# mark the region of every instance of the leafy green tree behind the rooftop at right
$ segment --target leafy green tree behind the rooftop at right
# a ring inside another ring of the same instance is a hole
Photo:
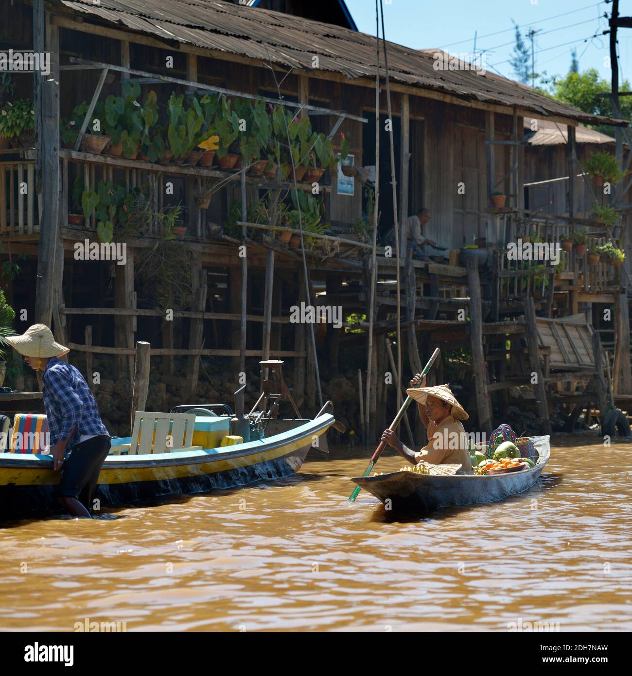
[[[621,91],[629,91],[629,82],[624,80],[619,89]],[[561,80],[554,80],[551,95],[557,101],[572,105],[579,108],[579,110],[583,110],[585,113],[614,117],[610,98],[607,96],[597,96],[598,94],[608,94],[610,91],[610,82],[600,78],[596,68],[589,68],[581,73],[571,70]],[[632,97],[621,97],[619,99],[621,113],[626,120],[632,118],[631,99]],[[603,134],[613,135],[613,128],[608,124],[600,124],[600,126],[593,128]]]

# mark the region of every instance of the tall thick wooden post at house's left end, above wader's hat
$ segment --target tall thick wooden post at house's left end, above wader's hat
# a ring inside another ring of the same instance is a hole
[[[55,250],[59,240],[59,76],[55,80],[59,64],[59,29],[44,21],[43,0],[33,3],[34,51],[47,51],[51,58],[51,74],[46,80],[40,73],[33,74],[34,97],[41,99],[34,108],[36,118],[35,174],[40,177],[39,203],[42,206],[37,280],[35,283],[35,321],[51,325],[53,295],[55,289]],[[46,44],[44,41],[44,26]],[[39,132],[39,135],[37,134]],[[45,177],[45,180],[43,180]]]

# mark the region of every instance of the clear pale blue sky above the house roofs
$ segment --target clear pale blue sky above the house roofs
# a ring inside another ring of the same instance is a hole
[[[358,30],[375,33],[374,0],[346,0]],[[610,37],[595,33],[608,30],[612,2],[590,0],[383,0],[386,37],[407,47],[441,47],[451,53],[471,53],[474,35],[477,52],[486,50],[487,68],[514,78],[508,60],[514,46],[512,19],[522,32],[535,35],[535,72],[564,75],[575,47],[580,70],[597,68],[610,80]],[[571,12],[571,14],[567,14]],[[632,0],[621,0],[621,16],[632,16]],[[565,16],[558,16],[564,14]],[[555,18],[556,17],[556,18]],[[504,32],[500,32],[504,31]],[[495,33],[490,35],[491,33]],[[632,71],[632,28],[618,29],[620,78],[630,79]],[[585,39],[589,38],[587,41]],[[574,44],[566,44],[571,43]],[[530,43],[529,43],[530,44]],[[493,68],[491,68],[493,66]]]

